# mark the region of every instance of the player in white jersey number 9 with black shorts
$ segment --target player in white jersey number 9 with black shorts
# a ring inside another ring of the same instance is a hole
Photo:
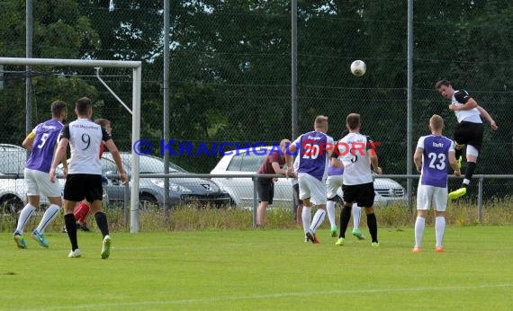
[[[105,147],[111,151],[123,184],[128,182],[128,177],[123,170],[120,152],[111,136],[100,125],[90,120],[93,115],[91,100],[86,97],[77,100],[75,113],[78,119],[62,129],[58,148],[49,171],[49,179],[51,182],[55,182],[58,159],[66,153],[69,144],[71,159],[64,186],[64,223],[71,242],[71,252],[67,256],[76,258],[81,255],[76,239],[76,221],[73,209],[76,207],[76,202],[85,198],[90,203],[96,224],[102,232],[103,246],[100,255],[106,259],[111,253],[111,236],[109,235],[107,216],[102,211],[102,165],[98,157],[102,141],[104,141]]]

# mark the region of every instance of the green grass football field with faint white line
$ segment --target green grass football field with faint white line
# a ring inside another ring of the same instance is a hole
[[[102,260],[97,231],[79,233],[78,259],[66,234],[19,250],[2,233],[0,308],[513,309],[513,227],[447,227],[446,253],[435,253],[432,227],[422,253],[411,252],[411,227],[379,235],[381,248],[352,236],[336,246],[326,229],[321,244],[299,229],[114,233]]]

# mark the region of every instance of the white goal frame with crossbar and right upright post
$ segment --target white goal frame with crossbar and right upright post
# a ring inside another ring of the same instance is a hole
[[[132,69],[131,146],[140,139],[140,90],[142,63],[125,60],[0,58],[0,65],[53,67],[118,67]],[[139,232],[139,155],[131,148],[130,233]]]

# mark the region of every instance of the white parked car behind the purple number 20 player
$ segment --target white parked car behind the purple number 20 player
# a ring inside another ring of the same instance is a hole
[[[257,173],[258,168],[268,155],[272,147],[256,147],[249,150],[232,151],[224,155],[218,164],[211,170],[211,174],[233,174],[231,178],[211,178],[217,182],[229,195],[238,207],[251,207],[253,205],[253,181],[249,177],[236,177],[240,174]],[[256,155],[254,152],[257,150]],[[393,201],[406,200],[406,191],[400,183],[390,178],[374,179],[374,203],[375,205],[386,205]],[[343,197],[342,189],[338,189],[338,196]],[[291,180],[280,178],[275,182],[274,204],[284,203],[285,207],[293,206],[293,186]]]

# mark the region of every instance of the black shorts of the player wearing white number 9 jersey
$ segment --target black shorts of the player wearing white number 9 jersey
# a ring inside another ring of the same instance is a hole
[[[67,174],[64,184],[64,200],[78,202],[102,200],[102,175],[90,173]]]

